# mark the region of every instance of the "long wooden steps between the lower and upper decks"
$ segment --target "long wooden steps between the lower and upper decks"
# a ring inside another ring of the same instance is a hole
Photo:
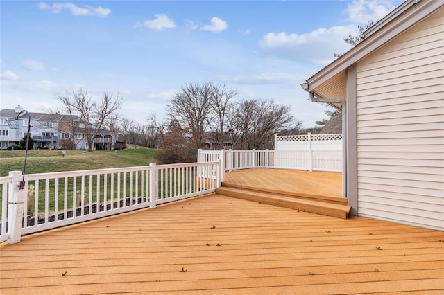
[[[346,204],[332,204],[330,202],[302,199],[286,194],[261,192],[259,190],[248,190],[227,186],[216,188],[216,194],[343,219],[348,217],[351,209],[351,207]]]

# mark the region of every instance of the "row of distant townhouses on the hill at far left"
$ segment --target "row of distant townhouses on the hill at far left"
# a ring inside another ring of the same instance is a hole
[[[33,149],[58,149],[71,148],[72,128],[71,121],[79,122],[78,117],[69,117],[63,114],[45,114],[24,112],[17,120],[18,129],[11,129],[8,120],[16,118],[23,111],[20,106],[15,109],[0,110],[0,150],[5,150],[10,145],[19,143],[28,132],[28,118],[31,118],[31,138],[33,138]],[[80,123],[79,123],[80,125]],[[115,143],[114,130],[99,130],[94,138],[94,150],[113,150]],[[81,128],[74,132],[74,143],[76,149],[86,150],[88,148],[85,134]]]

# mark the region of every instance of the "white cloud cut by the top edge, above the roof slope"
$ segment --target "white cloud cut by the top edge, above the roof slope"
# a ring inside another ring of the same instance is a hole
[[[355,24],[366,24],[368,21],[378,21],[395,9],[390,1],[381,0],[355,0],[348,4],[345,13],[348,21]]]

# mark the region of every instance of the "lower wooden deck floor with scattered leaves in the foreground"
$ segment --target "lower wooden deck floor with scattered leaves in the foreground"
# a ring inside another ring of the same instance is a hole
[[[0,245],[0,294],[443,294],[444,233],[207,195]]]

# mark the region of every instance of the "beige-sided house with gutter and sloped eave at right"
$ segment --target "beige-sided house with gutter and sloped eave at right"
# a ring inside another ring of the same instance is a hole
[[[404,1],[302,84],[343,110],[352,214],[444,230],[444,1]]]

